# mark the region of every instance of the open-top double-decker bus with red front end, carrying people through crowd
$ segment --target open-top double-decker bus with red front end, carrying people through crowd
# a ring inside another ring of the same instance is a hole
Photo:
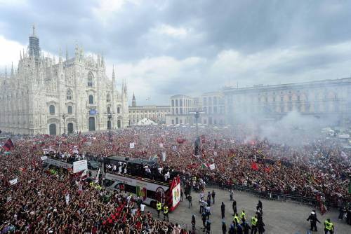
[[[156,207],[157,201],[167,205],[170,211],[179,205],[180,177],[172,172],[165,179],[156,161],[110,156],[104,158],[103,164],[106,188],[138,195],[151,207]]]

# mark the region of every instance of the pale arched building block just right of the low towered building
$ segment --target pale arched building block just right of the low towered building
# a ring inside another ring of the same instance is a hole
[[[201,109],[199,98],[189,97],[187,95],[174,95],[170,98],[171,112],[166,116],[167,125],[175,124],[193,124],[194,113]],[[201,121],[199,121],[201,123]]]

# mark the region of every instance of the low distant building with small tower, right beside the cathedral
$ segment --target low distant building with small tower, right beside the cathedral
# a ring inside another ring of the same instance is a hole
[[[143,118],[148,118],[155,123],[166,123],[166,114],[170,113],[170,106],[137,106],[135,95],[133,94],[132,106],[128,107],[129,125],[135,125]]]

